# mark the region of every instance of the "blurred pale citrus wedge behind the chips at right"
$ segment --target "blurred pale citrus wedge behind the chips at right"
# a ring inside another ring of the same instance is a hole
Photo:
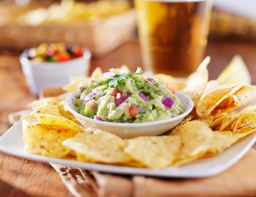
[[[235,55],[227,67],[218,76],[217,81],[251,84],[250,73],[240,55]]]

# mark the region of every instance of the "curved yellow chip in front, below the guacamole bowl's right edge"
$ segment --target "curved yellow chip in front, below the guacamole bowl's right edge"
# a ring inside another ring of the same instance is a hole
[[[212,141],[213,131],[201,121],[191,121],[179,127],[175,133],[181,137],[182,148],[173,166],[180,166],[204,156]]]

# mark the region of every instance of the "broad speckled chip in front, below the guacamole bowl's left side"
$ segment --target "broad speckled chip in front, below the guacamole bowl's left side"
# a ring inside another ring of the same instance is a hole
[[[79,161],[103,163],[131,161],[131,158],[122,151],[126,142],[112,133],[99,129],[88,128],[62,144],[75,151]]]

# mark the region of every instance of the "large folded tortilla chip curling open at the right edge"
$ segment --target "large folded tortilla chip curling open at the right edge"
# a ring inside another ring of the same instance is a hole
[[[209,81],[196,107],[200,118],[229,112],[256,98],[256,86]],[[240,100],[239,100],[240,99]]]

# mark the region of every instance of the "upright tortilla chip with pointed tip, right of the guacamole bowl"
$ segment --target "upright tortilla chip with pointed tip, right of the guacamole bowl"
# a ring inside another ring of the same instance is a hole
[[[186,87],[182,90],[183,93],[188,95],[193,103],[194,107],[197,106],[198,101],[204,93],[204,89],[208,83],[208,70],[207,65],[210,62],[210,57],[207,56],[204,61],[199,65],[196,72],[192,73],[186,80]]]

